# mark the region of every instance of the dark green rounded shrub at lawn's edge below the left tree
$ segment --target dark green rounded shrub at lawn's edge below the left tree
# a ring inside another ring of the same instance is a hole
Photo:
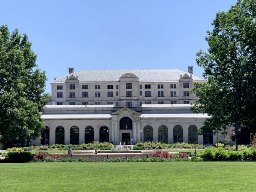
[[[24,163],[30,162],[33,159],[33,154],[27,151],[19,151],[19,152],[8,152],[7,153],[7,162],[12,163]]]

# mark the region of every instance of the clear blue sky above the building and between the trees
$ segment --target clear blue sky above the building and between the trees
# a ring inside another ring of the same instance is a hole
[[[81,69],[194,66],[216,12],[236,0],[5,0],[0,24],[28,34],[48,77]]]

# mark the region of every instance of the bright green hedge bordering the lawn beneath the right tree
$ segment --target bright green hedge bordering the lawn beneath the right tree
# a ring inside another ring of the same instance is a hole
[[[200,157],[206,161],[248,161],[256,160],[256,149],[228,151],[223,148],[206,148],[200,153]]]

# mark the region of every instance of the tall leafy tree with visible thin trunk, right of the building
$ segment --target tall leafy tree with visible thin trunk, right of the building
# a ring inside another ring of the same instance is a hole
[[[195,84],[192,92],[199,92],[199,100],[191,110],[211,116],[201,134],[224,133],[234,125],[237,149],[237,130],[256,130],[256,0],[238,0],[227,12],[217,12],[212,26],[208,51],[196,54],[208,82]]]

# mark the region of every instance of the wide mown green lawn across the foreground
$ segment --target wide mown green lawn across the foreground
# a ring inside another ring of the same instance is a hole
[[[248,192],[256,162],[0,164],[3,192]]]

